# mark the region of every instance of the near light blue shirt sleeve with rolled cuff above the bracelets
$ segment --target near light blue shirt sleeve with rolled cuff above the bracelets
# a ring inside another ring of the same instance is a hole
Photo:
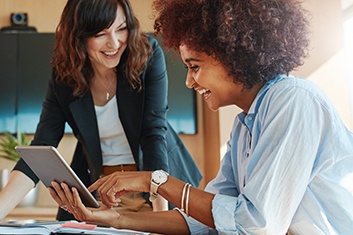
[[[239,195],[225,192],[228,195],[218,194],[213,199],[217,231],[287,232],[314,173],[320,139],[330,125],[325,112],[320,99],[302,88],[283,89],[264,98],[252,128],[243,189]],[[239,148],[244,145],[237,146],[241,141],[232,141],[234,161],[242,157]],[[221,187],[216,185],[219,191]]]

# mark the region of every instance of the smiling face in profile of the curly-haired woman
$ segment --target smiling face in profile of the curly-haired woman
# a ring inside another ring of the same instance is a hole
[[[202,95],[211,110],[232,104],[243,108],[243,85],[234,83],[223,64],[205,53],[188,50],[185,45],[179,51],[188,68],[186,86]]]

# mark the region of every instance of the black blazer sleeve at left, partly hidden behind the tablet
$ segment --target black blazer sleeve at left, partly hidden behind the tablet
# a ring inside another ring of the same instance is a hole
[[[55,95],[55,81],[52,78],[45,94],[40,120],[31,145],[51,145],[57,147],[64,134],[65,118]],[[29,166],[20,159],[14,167],[26,174],[36,184],[39,179]]]

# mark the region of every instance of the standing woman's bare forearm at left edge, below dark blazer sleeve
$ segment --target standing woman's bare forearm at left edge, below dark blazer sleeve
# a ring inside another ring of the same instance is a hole
[[[34,182],[25,174],[13,171],[0,192],[0,220],[6,217],[34,186]]]

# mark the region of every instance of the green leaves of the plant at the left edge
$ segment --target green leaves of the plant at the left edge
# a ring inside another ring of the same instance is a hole
[[[0,157],[17,162],[21,156],[15,150],[15,147],[29,145],[30,143],[31,140],[24,133],[17,133],[17,136],[14,136],[11,133],[4,132],[3,136],[0,137]]]

